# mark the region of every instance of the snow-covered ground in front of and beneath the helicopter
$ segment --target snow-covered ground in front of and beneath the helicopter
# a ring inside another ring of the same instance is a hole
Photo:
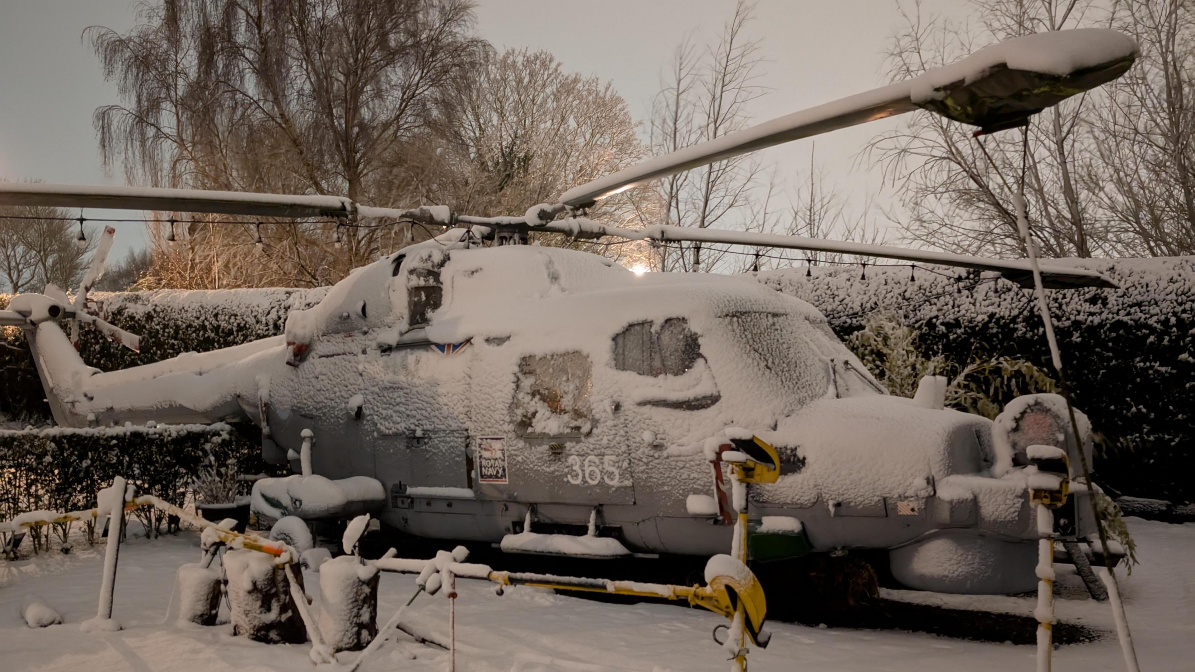
[[[131,525],[135,527],[135,524]],[[1195,524],[1168,525],[1129,519],[1141,564],[1122,578],[1129,623],[1145,672],[1189,672],[1195,642]],[[229,625],[164,625],[174,572],[197,560],[198,538],[182,534],[147,542],[133,538],[121,548],[116,618],[120,633],[82,633],[79,623],[94,616],[102,554],[75,545],[69,556],[0,561],[0,670],[220,672],[223,670],[307,670],[308,646],[268,646],[233,637]],[[1123,572],[1121,573],[1123,575]],[[1072,578],[1073,579],[1073,578]],[[1072,581],[1073,584],[1073,581]],[[318,591],[318,576],[306,576]],[[1110,607],[1065,589],[1059,613],[1097,629],[1111,628]],[[415,578],[386,574],[381,581],[379,622],[413,591]],[[538,672],[565,670],[701,671],[725,670],[721,649],[710,640],[718,616],[662,604],[624,606],[557,595],[533,588],[496,597],[489,584],[459,582],[458,666],[460,670]],[[63,624],[25,627],[20,607],[37,595],[57,610]],[[318,600],[318,595],[314,595]],[[899,595],[921,600],[970,601],[1009,611],[1031,610],[1021,598],[943,598],[929,593]],[[448,601],[421,597],[404,623],[427,635],[446,637]],[[834,672],[967,672],[1034,670],[1034,648],[960,641],[933,635],[807,628],[771,623],[766,650],[750,655],[754,671],[819,670]],[[341,654],[351,660],[355,654]],[[445,670],[447,653],[400,634],[363,666],[366,671]],[[1059,672],[1123,670],[1114,635],[1066,646],[1054,654]]]

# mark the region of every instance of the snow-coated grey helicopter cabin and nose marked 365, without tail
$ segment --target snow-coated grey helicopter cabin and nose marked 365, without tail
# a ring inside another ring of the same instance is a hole
[[[373,474],[381,517],[409,532],[492,542],[526,505],[578,529],[601,505],[632,548],[717,552],[729,529],[686,501],[713,494],[704,440],[743,427],[786,462],[760,512],[808,520],[821,550],[888,548],[937,526],[937,481],[991,465],[987,420],[887,396],[817,311],[758,283],[553,248],[448,257],[425,326],[324,334],[270,384],[275,436],[295,446],[312,428],[315,471]],[[406,286],[391,286],[399,324]],[[918,513],[897,518],[897,502]],[[1019,507],[992,511],[989,529],[1025,533]]]

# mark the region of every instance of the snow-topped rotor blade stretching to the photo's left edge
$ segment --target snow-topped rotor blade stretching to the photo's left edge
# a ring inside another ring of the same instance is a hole
[[[345,216],[353,207],[353,201],[341,196],[0,182],[0,206],[313,218]]]

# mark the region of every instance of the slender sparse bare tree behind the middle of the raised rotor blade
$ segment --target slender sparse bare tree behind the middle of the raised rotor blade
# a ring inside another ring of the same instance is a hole
[[[652,110],[652,149],[673,152],[744,128],[750,103],[764,94],[759,85],[760,47],[747,37],[754,4],[739,0],[719,39],[700,60],[688,42],[674,54],[664,86]],[[725,225],[752,206],[761,166],[741,155],[715,161],[663,181],[657,190],[661,219],[699,228]],[[712,270],[725,251],[694,243],[662,248],[662,270]]]

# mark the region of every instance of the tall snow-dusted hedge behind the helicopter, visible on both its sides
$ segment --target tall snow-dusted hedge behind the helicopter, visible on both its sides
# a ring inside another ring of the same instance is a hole
[[[1097,476],[1114,493],[1195,502],[1195,257],[1085,259],[1120,289],[1050,291],[1076,404],[1103,436]],[[821,310],[847,338],[877,311],[917,330],[927,358],[966,364],[1016,356],[1052,371],[1031,292],[1004,280],[909,265],[762,271],[758,280]],[[85,329],[80,352],[105,371],[281,332],[289,310],[325,289],[158,291],[96,294],[105,317],[142,336],[137,355]],[[5,303],[0,298],[0,303]],[[0,306],[2,307],[2,306]],[[49,416],[19,334],[0,348],[0,413]],[[16,349],[12,349],[16,348]]]

